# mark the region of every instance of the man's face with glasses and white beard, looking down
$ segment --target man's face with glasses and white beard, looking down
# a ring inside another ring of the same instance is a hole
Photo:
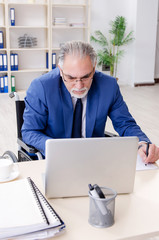
[[[60,67],[59,67],[60,68]],[[79,56],[67,55],[60,68],[60,74],[67,90],[71,96],[82,98],[88,93],[95,67],[93,67],[89,56],[80,58]]]

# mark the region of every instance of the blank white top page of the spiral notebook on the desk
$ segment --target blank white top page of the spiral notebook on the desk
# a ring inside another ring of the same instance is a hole
[[[0,237],[46,226],[28,179],[0,185],[0,215]]]

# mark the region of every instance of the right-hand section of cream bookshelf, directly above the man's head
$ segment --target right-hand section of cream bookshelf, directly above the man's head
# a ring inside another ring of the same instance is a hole
[[[61,24],[54,19],[64,18]],[[51,50],[56,53],[60,45],[70,40],[90,40],[90,0],[51,1]]]

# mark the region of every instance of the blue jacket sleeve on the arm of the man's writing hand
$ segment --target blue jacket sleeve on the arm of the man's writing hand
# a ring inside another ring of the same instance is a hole
[[[118,84],[115,85],[114,102],[111,106],[109,117],[112,120],[114,129],[120,136],[137,136],[139,141],[150,141],[130,114]]]

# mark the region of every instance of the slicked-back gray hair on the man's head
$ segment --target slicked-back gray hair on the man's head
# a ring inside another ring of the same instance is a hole
[[[81,41],[71,41],[67,42],[61,46],[59,52],[59,66],[62,68],[66,55],[79,56],[80,58],[84,58],[89,56],[93,67],[97,61],[97,54],[93,47],[89,43],[81,42]]]

